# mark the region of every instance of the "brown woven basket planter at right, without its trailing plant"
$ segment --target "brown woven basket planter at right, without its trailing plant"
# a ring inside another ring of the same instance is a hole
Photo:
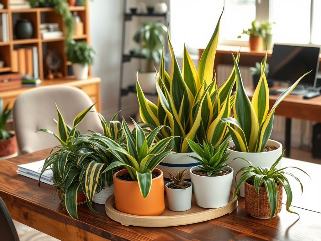
[[[265,187],[259,187],[257,195],[254,186],[245,182],[245,209],[247,212],[259,219],[269,219],[271,217],[270,204],[267,199]],[[279,214],[282,209],[282,185],[277,185],[278,201],[273,217]]]

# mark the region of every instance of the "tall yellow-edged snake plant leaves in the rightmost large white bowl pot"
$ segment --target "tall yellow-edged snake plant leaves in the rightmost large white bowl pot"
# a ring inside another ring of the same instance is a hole
[[[308,73],[300,77],[293,85],[286,89],[277,98],[269,111],[269,87],[265,76],[266,52],[261,63],[261,77],[256,86],[252,101],[249,100],[244,89],[237,60],[232,55],[236,70],[236,94],[234,100],[234,118],[221,118],[228,123],[231,138],[236,149],[241,152],[263,152],[273,128],[275,108],[299,84],[299,81]]]

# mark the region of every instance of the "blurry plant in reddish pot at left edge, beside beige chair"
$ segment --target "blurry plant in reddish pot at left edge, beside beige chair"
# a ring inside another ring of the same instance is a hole
[[[13,131],[5,129],[8,119],[12,115],[9,103],[4,107],[4,101],[0,99],[0,159],[16,155],[18,151],[16,136]]]

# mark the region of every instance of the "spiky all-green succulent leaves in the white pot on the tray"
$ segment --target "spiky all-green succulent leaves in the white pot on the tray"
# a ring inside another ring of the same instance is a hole
[[[225,162],[228,160],[230,153],[226,153],[227,147],[229,146],[228,142],[222,143],[214,148],[209,143],[204,143],[204,147],[201,144],[197,144],[192,140],[187,139],[188,145],[191,147],[200,158],[195,156],[189,156],[199,162],[198,167],[202,169],[208,176],[212,174],[221,173],[225,167],[228,165]]]

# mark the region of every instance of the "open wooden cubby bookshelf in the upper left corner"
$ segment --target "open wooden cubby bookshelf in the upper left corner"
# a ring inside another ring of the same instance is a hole
[[[62,17],[55,12],[54,8],[30,8],[30,9],[10,9],[9,0],[0,0],[0,3],[4,4],[4,9],[0,10],[0,13],[8,13],[9,24],[9,41],[0,42],[0,60],[3,60],[4,67],[0,68],[0,72],[11,71],[13,66],[13,49],[24,46],[37,46],[39,56],[39,76],[42,80],[48,74],[48,68],[44,62],[44,56],[48,49],[56,49],[62,56],[63,64],[58,70],[64,76],[68,76],[67,58],[65,56],[65,37],[55,39],[42,39],[40,34],[40,24],[44,22],[57,22],[60,29],[66,35],[66,29],[62,21]],[[84,25],[84,34],[80,36],[74,36],[74,40],[85,40],[90,42],[89,38],[89,1],[86,6],[73,6],[69,7],[70,11],[78,12],[78,16],[81,18]],[[33,25],[34,34],[31,39],[17,39],[14,34],[14,25],[17,19],[29,19]],[[91,75],[91,68],[89,69],[89,75]]]

